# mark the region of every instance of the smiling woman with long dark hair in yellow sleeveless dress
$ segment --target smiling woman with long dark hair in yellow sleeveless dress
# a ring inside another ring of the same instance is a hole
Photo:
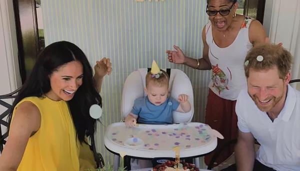
[[[108,58],[96,63],[93,79],[75,44],[43,49],[13,102],[0,171],[79,171],[80,147],[96,128],[89,108],[101,105],[102,79],[111,73]]]

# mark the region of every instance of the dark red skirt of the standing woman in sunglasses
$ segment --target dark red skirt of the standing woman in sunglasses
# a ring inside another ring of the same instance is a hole
[[[210,89],[207,96],[205,124],[217,130],[224,136],[223,140],[217,140],[217,147],[222,146],[229,140],[237,138],[237,116],[235,114],[236,100],[226,100],[220,98]],[[234,145],[224,149],[215,161],[218,165],[226,160],[234,151]],[[206,165],[209,164],[214,152],[204,157]]]

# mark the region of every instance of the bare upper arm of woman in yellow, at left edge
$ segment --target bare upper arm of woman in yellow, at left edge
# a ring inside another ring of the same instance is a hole
[[[0,156],[0,171],[16,171],[28,139],[40,127],[40,113],[31,102],[22,102],[11,121],[9,136]]]

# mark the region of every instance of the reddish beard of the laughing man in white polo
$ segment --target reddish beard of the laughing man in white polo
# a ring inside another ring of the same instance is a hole
[[[250,97],[260,111],[269,112],[283,98],[283,94],[281,94],[279,97],[272,96],[271,98],[267,98],[269,100],[267,102],[268,103],[267,105],[261,105],[261,102],[259,102],[258,97],[256,95],[253,96],[250,95]]]

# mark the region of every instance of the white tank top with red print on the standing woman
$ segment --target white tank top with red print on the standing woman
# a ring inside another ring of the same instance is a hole
[[[219,97],[236,100],[239,91],[246,86],[243,63],[252,43],[248,28],[252,19],[245,17],[235,40],[227,47],[218,47],[212,38],[211,22],[205,25],[208,57],[211,63],[211,80],[208,87]]]

